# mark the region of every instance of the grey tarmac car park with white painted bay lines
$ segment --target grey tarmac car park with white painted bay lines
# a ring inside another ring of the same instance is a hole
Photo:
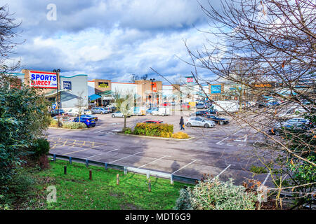
[[[133,127],[145,120],[162,120],[173,124],[174,132],[178,132],[180,116],[186,120],[189,113],[132,116],[127,119],[127,126]],[[232,178],[237,184],[252,179],[250,165],[261,165],[251,158],[251,149],[252,144],[263,141],[263,137],[234,121],[208,129],[185,127],[184,132],[194,139],[178,141],[120,135],[117,132],[122,129],[124,118],[112,118],[111,113],[98,115],[98,118],[96,127],[88,130],[49,129],[50,153],[197,179],[203,174],[220,174],[220,179]],[[265,176],[260,174],[256,179],[263,181]]]

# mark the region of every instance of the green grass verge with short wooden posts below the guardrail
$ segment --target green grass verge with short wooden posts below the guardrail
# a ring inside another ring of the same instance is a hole
[[[179,190],[185,183],[151,177],[151,192],[148,192],[146,176],[108,169],[88,168],[83,164],[57,160],[51,162],[51,169],[34,174],[37,185],[32,189],[37,199],[29,200],[25,207],[32,209],[173,209],[179,196]],[[67,165],[67,174],[64,166]],[[92,170],[92,181],[89,180]],[[117,174],[120,183],[117,186]],[[46,189],[55,186],[57,202],[46,202]]]

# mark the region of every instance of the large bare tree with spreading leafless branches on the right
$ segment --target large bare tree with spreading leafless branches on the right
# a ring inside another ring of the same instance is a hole
[[[194,68],[192,76],[198,85],[219,78],[235,83],[239,102],[246,92],[251,96],[247,100],[263,101],[262,107],[249,107],[246,113],[226,112],[265,137],[254,154],[270,170],[277,197],[282,190],[291,189],[297,193],[298,206],[311,202],[316,173],[315,1],[220,2],[220,10],[210,1],[200,4],[209,18],[209,30],[202,32],[211,36],[203,50],[192,52],[185,42],[191,57],[187,63]],[[199,69],[213,73],[213,78],[206,80]],[[267,98],[279,101],[278,105]],[[279,120],[289,109],[301,110],[299,116],[308,123],[289,130]],[[282,135],[268,134],[277,123]],[[265,152],[268,154],[263,157]]]

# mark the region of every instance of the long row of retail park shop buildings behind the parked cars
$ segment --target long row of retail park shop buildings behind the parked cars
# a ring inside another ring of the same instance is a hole
[[[83,107],[106,106],[114,102],[114,96],[129,95],[136,106],[162,105],[163,102],[187,103],[199,100],[236,99],[232,91],[239,87],[221,82],[209,85],[197,85],[190,76],[183,84],[164,85],[160,80],[135,80],[134,83],[117,83],[108,79],[88,80],[88,75],[62,76],[58,72],[22,69],[20,73],[11,73],[20,83],[37,87],[52,102],[53,108],[77,108],[79,99]],[[60,102],[58,105],[57,102]]]

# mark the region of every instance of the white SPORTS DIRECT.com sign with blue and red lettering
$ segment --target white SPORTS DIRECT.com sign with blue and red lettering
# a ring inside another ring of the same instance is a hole
[[[31,86],[37,88],[57,89],[57,75],[51,72],[29,71]]]

